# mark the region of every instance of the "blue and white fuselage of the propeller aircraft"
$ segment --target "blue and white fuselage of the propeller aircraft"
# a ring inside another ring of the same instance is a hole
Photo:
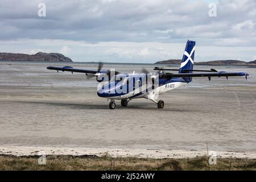
[[[115,75],[113,80],[98,86],[98,96],[110,100],[132,100],[146,98],[154,101],[159,94],[187,85],[183,78],[161,78],[159,75],[144,73]],[[123,78],[120,81],[120,78]],[[126,88],[126,89],[123,89]],[[122,90],[122,92],[118,92]]]

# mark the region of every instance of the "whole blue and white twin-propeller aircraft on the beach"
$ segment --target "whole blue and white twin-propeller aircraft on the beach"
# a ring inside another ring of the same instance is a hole
[[[187,46],[179,69],[164,69],[155,67],[156,73],[149,73],[146,69],[142,69],[141,73],[124,73],[108,70],[102,71],[102,63],[99,63],[98,70],[76,69],[73,67],[47,67],[57,72],[79,72],[86,75],[96,76],[98,84],[97,94],[100,97],[110,100],[109,108],[115,109],[115,100],[121,100],[122,106],[127,106],[128,102],[135,98],[146,98],[155,102],[159,109],[164,107],[162,100],[156,101],[159,94],[174,90],[180,86],[187,85],[192,81],[192,77],[226,77],[229,76],[247,76],[245,72],[224,72],[210,70],[193,69],[195,44],[188,40]],[[166,71],[179,71],[178,73],[170,73]],[[200,72],[200,73],[193,73]]]

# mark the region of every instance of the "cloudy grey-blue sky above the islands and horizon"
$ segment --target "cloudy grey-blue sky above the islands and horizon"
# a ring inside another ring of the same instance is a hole
[[[1,0],[0,27],[0,52],[154,63],[181,59],[191,39],[196,61],[256,59],[254,0]]]

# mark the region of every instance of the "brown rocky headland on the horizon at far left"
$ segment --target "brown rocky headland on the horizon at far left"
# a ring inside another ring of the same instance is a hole
[[[0,60],[7,61],[65,61],[73,62],[69,57],[65,57],[61,53],[45,53],[38,52],[34,55],[25,53],[6,53],[0,52]]]

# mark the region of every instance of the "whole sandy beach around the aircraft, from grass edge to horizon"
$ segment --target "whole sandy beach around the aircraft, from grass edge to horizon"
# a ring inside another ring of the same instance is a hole
[[[109,102],[97,96],[97,82],[82,74],[48,71],[47,65],[0,64],[0,154],[27,155],[50,148],[65,154],[63,148],[68,148],[81,155],[114,150],[113,155],[122,156],[189,157],[204,155],[208,143],[210,151],[222,151],[217,152],[220,156],[255,158],[252,68],[245,70],[250,72],[249,81],[214,78],[209,83],[197,78],[191,86],[161,95],[162,110],[143,99],[125,108],[117,102],[117,108],[109,110]],[[118,66],[124,72],[141,68]],[[212,85],[198,86],[204,83]]]

